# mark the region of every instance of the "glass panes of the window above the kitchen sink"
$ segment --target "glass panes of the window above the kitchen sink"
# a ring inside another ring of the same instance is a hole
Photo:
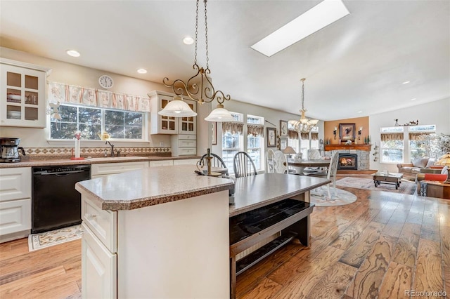
[[[112,139],[143,140],[144,113],[97,107],[60,105],[61,119],[51,119],[50,139],[74,139],[76,131],[84,140],[100,140],[108,132]]]

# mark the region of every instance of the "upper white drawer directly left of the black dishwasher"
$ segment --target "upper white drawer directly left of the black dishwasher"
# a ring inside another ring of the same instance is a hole
[[[31,197],[31,167],[1,168],[0,201]]]

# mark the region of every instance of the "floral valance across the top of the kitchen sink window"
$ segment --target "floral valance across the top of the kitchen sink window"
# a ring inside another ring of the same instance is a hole
[[[138,95],[113,93],[95,88],[47,81],[49,102],[69,102],[71,104],[100,108],[122,109],[136,112],[150,112],[150,99]]]

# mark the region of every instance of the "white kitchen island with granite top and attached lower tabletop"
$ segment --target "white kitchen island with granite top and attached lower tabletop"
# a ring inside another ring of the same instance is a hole
[[[195,175],[194,169],[146,168],[77,183],[83,298],[229,298],[230,215],[264,207],[262,201],[309,199],[309,190],[328,182],[273,174],[285,181],[281,189],[294,187],[282,195],[269,192],[271,198],[258,203],[261,194],[252,188],[270,189],[268,177],[257,176],[257,185],[241,180],[230,208],[233,182]]]

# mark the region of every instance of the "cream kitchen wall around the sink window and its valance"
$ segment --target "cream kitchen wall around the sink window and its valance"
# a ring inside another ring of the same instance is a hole
[[[34,65],[41,65],[43,67],[50,67],[51,73],[47,79],[49,81],[56,81],[65,84],[85,86],[91,88],[98,88],[98,77],[102,74],[108,74],[114,79],[114,86],[110,91],[117,93],[129,93],[132,95],[147,96],[147,93],[153,90],[170,91],[169,88],[163,84],[151,81],[135,79],[120,74],[112,74],[104,72],[100,69],[91,69],[89,67],[82,67],[73,65],[67,62],[52,60],[49,58],[31,55],[29,53],[15,51],[10,48],[0,47],[0,55],[2,58],[18,60],[21,62],[28,62]],[[161,81],[162,81],[161,76]],[[72,141],[58,141],[50,144],[47,141],[49,138],[49,128],[13,128],[1,127],[1,137],[20,138],[20,145],[23,147],[71,147]],[[164,142],[165,147],[170,146],[170,135],[148,135],[149,142],[127,142],[127,146],[134,147],[159,147],[160,142]],[[115,145],[125,146],[121,142],[114,142]],[[99,147],[103,146],[101,141],[84,141],[82,147]]]

